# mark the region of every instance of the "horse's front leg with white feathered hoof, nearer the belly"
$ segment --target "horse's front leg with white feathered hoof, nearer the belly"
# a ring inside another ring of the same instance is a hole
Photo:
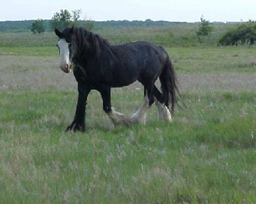
[[[114,125],[131,125],[131,118],[125,117],[122,113],[114,111],[111,107],[111,88],[101,86],[98,91],[102,96],[103,110],[108,114]]]

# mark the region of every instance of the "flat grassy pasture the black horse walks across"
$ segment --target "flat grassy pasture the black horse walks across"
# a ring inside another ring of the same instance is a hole
[[[256,48],[166,48],[188,109],[113,127],[99,93],[66,133],[77,91],[55,47],[0,48],[0,203],[256,203]],[[127,115],[139,83],[112,90]]]

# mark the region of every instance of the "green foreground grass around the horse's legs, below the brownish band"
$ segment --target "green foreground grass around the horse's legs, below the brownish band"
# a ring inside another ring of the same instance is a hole
[[[113,129],[93,92],[82,134],[64,132],[75,92],[0,97],[3,203],[256,201],[256,93],[186,94],[172,124],[152,108],[147,125]]]

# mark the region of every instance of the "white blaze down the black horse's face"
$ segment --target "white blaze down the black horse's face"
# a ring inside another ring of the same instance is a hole
[[[60,68],[66,72],[70,72],[70,51],[69,51],[69,44],[65,39],[60,39],[58,41],[58,48],[60,51]]]

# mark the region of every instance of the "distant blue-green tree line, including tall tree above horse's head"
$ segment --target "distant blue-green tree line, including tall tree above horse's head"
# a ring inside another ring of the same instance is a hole
[[[151,26],[171,26],[186,22],[169,22],[169,21],[153,21],[147,19],[139,20],[108,20],[108,21],[93,21],[80,20],[81,10],[67,11],[61,9],[53,14],[51,20],[24,20],[24,21],[3,21],[0,22],[0,32],[23,32],[32,31],[33,33],[44,33],[45,31],[53,31],[54,28],[63,29],[67,26],[83,26],[88,30],[100,28],[122,28],[122,27],[151,27]]]

